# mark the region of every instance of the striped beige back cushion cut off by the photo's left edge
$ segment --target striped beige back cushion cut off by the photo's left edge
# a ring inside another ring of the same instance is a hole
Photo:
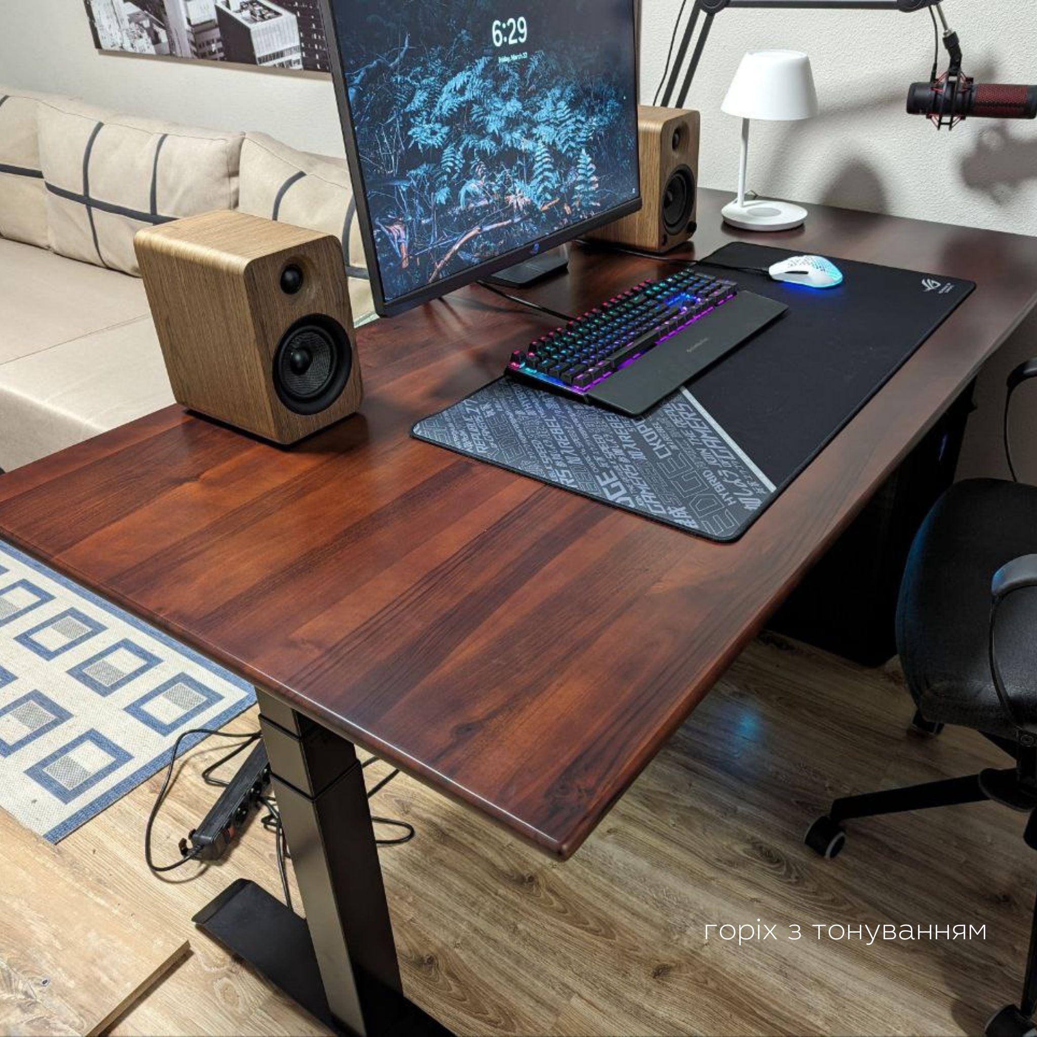
[[[36,94],[0,86],[0,237],[47,248]]]

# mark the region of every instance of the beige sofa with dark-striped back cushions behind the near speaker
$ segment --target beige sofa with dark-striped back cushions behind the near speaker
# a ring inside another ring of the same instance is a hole
[[[372,317],[344,162],[0,86],[0,470],[173,401],[133,235],[235,207],[344,240]]]

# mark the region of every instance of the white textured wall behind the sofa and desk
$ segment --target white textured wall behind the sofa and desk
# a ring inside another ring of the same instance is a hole
[[[421,2],[421,0],[415,0]],[[564,0],[559,0],[564,2]],[[680,0],[642,0],[642,99],[662,75]],[[107,107],[218,129],[262,130],[296,147],[342,153],[330,80],[205,61],[97,54],[82,0],[0,0],[0,84],[75,94]],[[981,81],[1037,82],[1037,0],[945,0],[966,68]],[[821,102],[804,123],[757,123],[750,187],[761,194],[1037,234],[1037,123],[976,120],[937,134],[903,112],[907,84],[926,79],[925,12],[761,11],[718,16],[689,106],[703,116],[701,181],[733,190],[738,121],[724,91],[746,50],[810,53]],[[941,56],[943,67],[944,56]],[[1004,371],[1037,355],[1037,318],[989,365],[963,471],[1005,471]],[[1018,436],[1037,479],[1037,393],[1020,394]],[[1032,444],[1027,449],[1027,443]]]

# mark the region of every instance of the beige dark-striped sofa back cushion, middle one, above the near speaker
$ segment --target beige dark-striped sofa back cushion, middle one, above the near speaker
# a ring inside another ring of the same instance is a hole
[[[141,228],[237,204],[243,135],[40,102],[50,246],[138,274]]]

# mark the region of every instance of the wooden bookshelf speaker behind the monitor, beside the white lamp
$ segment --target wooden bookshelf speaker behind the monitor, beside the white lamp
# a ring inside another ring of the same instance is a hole
[[[669,252],[696,229],[699,183],[699,113],[680,108],[638,108],[641,151],[639,213],[587,236],[646,252]]]

